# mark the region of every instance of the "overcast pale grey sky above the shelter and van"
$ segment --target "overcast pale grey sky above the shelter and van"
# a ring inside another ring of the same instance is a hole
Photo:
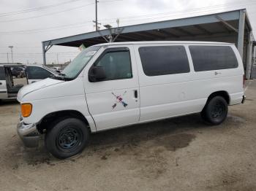
[[[98,0],[102,26],[129,26],[246,8],[256,30],[256,0]],[[0,0],[0,63],[42,63],[42,41],[94,31],[95,0]],[[104,27],[101,27],[104,29]],[[78,48],[53,46],[47,63],[64,63]]]

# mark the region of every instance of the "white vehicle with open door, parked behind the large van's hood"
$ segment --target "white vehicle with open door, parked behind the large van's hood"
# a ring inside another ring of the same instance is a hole
[[[21,87],[48,78],[51,75],[56,75],[56,72],[47,66],[0,64],[0,101],[17,98]]]

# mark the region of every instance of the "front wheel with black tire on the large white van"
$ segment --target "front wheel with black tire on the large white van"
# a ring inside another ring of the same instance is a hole
[[[89,140],[89,128],[81,120],[66,118],[53,125],[45,136],[45,148],[54,157],[64,159],[82,152]]]

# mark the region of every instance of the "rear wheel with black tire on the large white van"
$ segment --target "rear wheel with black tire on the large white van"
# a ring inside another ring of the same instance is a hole
[[[211,125],[219,125],[225,121],[227,112],[228,107],[225,98],[216,96],[206,103],[206,106],[201,112],[201,117],[206,122],[211,123]]]

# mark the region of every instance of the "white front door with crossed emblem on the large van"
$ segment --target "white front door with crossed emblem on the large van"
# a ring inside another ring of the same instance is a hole
[[[89,70],[94,66],[105,70],[106,78],[100,82],[89,81]],[[84,76],[86,101],[97,130],[138,122],[139,83],[132,45],[105,49]]]

